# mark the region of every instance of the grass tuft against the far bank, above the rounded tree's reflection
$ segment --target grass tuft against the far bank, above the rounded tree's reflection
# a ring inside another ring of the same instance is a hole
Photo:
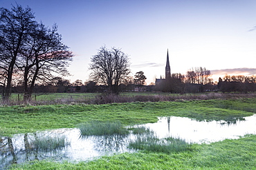
[[[100,122],[94,120],[89,123],[77,125],[77,127],[80,129],[81,136],[129,134],[129,131],[120,122]]]

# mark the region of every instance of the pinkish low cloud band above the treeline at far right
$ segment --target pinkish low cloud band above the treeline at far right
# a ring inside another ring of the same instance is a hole
[[[244,75],[253,76],[256,75],[256,68],[234,68],[234,69],[223,69],[223,70],[210,70],[212,75]]]

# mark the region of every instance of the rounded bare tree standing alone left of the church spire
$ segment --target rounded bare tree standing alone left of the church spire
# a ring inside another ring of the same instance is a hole
[[[130,73],[129,65],[127,54],[120,49],[100,47],[98,54],[91,58],[91,80],[107,85],[108,92],[118,94],[118,86]]]

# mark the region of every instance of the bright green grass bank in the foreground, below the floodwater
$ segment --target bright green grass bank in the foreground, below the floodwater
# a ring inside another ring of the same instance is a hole
[[[179,153],[122,153],[91,162],[43,160],[13,169],[255,169],[256,136],[192,147]]]

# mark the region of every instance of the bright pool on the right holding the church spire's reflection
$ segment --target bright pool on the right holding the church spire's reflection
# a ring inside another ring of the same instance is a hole
[[[256,134],[256,115],[225,121],[196,121],[190,118],[160,118],[158,123],[147,123],[145,127],[156,131],[159,138],[172,136],[187,142],[216,142],[226,138],[239,138],[245,134]]]

